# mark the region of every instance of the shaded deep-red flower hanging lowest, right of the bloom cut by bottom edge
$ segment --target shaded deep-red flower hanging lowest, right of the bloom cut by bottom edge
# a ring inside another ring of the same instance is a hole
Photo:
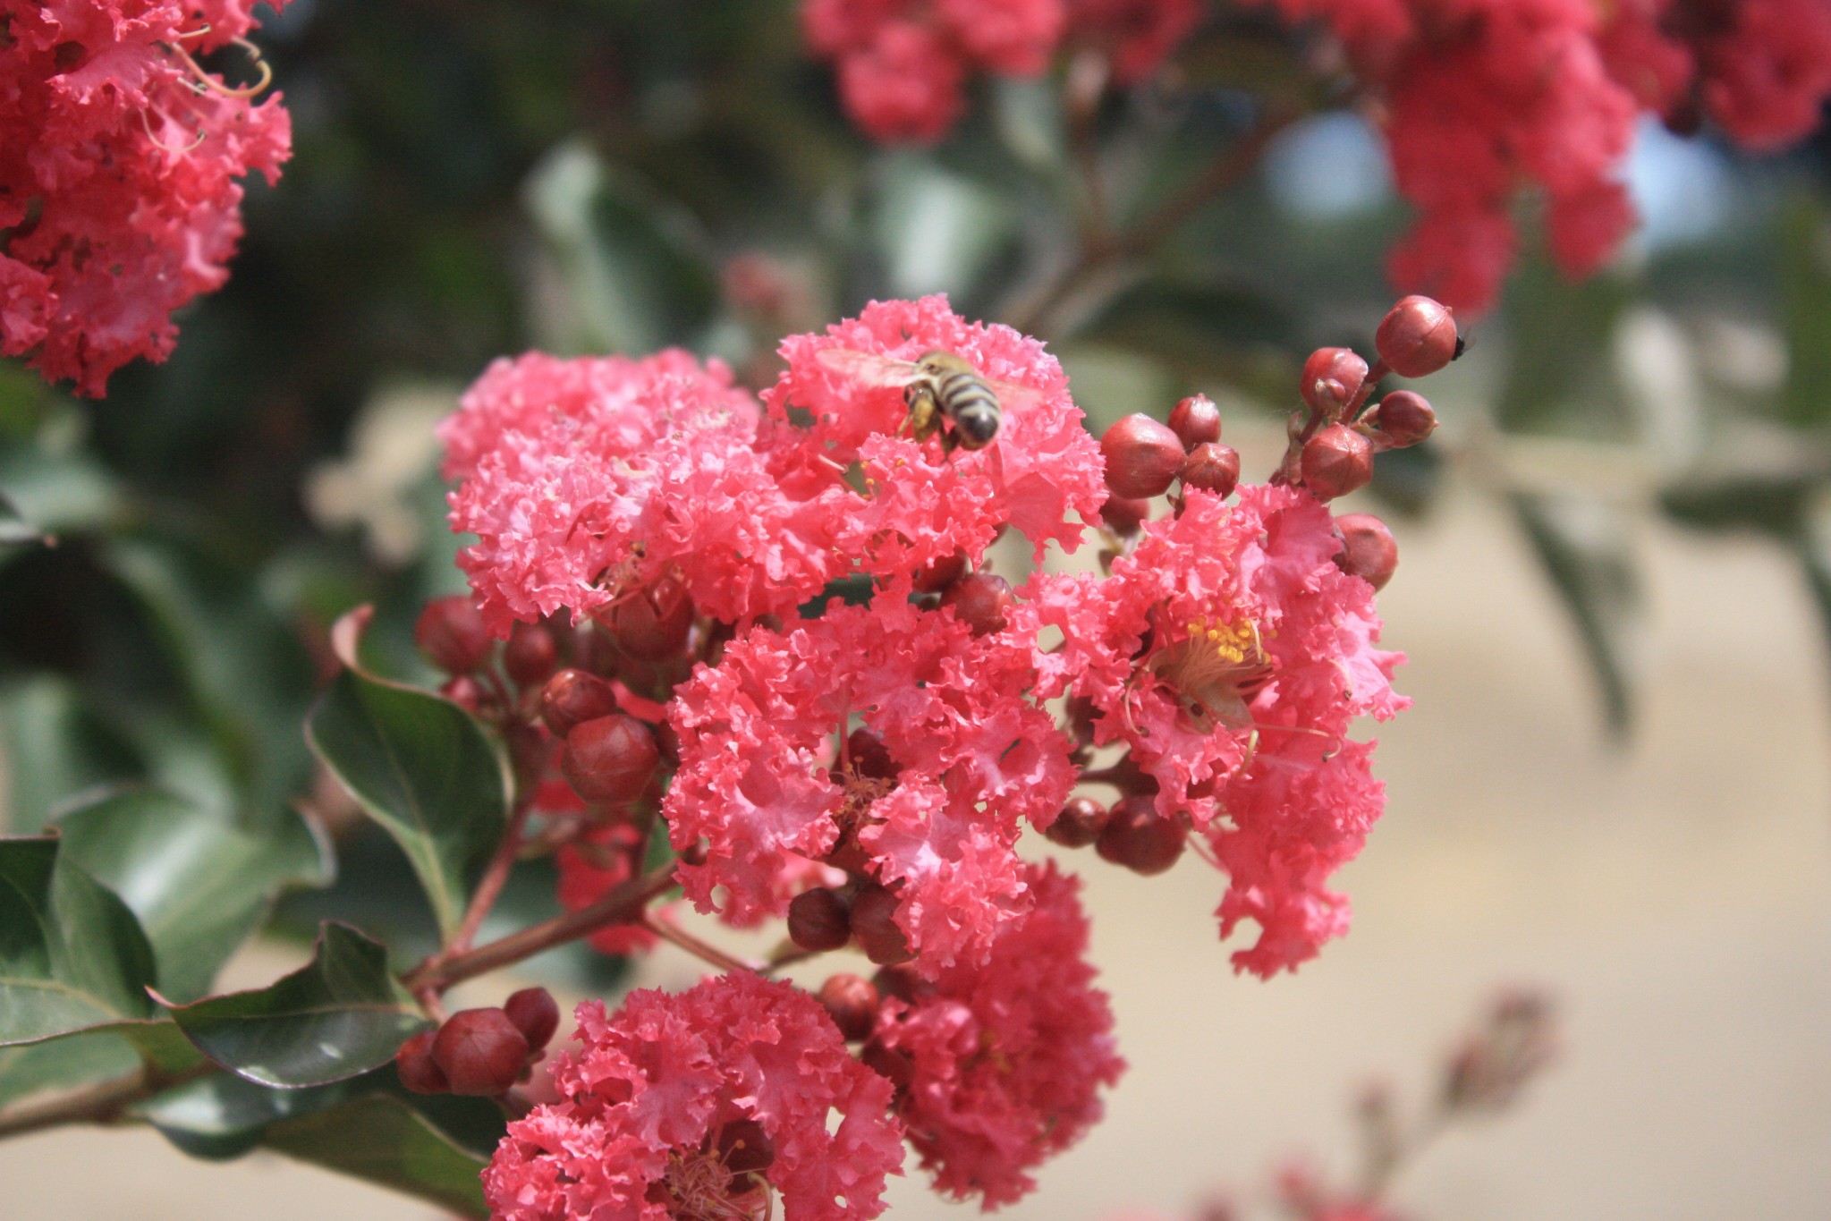
[[[866,1049],[906,1078],[895,1109],[936,1186],[987,1208],[1035,1188],[1029,1172],[1099,1122],[1100,1089],[1124,1071],[1084,957],[1080,882],[1053,862],[1025,881],[1035,908],[1000,926],[985,965],[905,979]]]

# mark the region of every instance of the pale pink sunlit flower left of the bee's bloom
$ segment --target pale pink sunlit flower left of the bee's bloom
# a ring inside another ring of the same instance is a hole
[[[731,622],[818,593],[837,575],[824,518],[771,478],[758,417],[723,364],[679,351],[493,364],[439,428],[491,630],[577,621],[663,577]]]

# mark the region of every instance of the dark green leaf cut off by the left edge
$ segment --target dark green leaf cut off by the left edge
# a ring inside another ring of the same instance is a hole
[[[146,1018],[139,921],[55,838],[0,840],[0,1045]]]

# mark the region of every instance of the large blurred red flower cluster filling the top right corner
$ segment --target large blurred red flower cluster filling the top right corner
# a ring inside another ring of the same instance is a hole
[[[1267,0],[1320,20],[1384,103],[1401,194],[1401,287],[1479,309],[1514,258],[1512,201],[1545,200],[1551,253],[1595,271],[1633,227],[1620,183],[1641,112],[1708,115],[1750,148],[1794,141],[1831,97],[1816,0]]]

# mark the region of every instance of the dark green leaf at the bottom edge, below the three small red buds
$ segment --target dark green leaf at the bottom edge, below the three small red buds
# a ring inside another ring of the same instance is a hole
[[[388,1095],[280,1120],[262,1144],[465,1217],[489,1216],[478,1181],[487,1157],[463,1151],[421,1111]]]

